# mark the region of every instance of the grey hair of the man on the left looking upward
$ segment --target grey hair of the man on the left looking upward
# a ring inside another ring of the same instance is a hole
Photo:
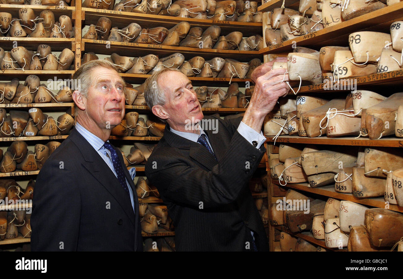
[[[98,67],[106,68],[106,69],[111,69],[115,70],[118,72],[116,69],[115,65],[110,63],[107,60],[91,60],[88,61],[87,63],[84,63],[79,67],[79,69],[74,73],[73,75],[73,80],[77,79],[80,82],[78,91],[84,96],[87,97],[87,92],[88,88],[90,86],[95,85],[95,80],[93,79],[92,71],[93,69],[96,69]],[[123,84],[125,84],[125,80],[122,78]]]

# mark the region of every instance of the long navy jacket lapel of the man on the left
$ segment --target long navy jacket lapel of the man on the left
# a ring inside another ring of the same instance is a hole
[[[128,197],[125,189],[120,186],[120,183],[112,170],[95,151],[95,149],[88,143],[88,141],[85,140],[85,138],[79,132],[77,132],[77,130],[73,130],[73,132],[69,135],[69,139],[71,139],[75,145],[77,145],[77,148],[83,155],[85,159],[85,162],[82,162],[83,167],[85,167],[87,171],[94,178],[96,178],[100,184],[106,188],[106,190],[108,190],[112,197],[114,197],[118,204],[120,204],[120,206],[123,208],[134,225],[135,215],[131,206],[130,198]],[[129,183],[130,180],[128,179]]]

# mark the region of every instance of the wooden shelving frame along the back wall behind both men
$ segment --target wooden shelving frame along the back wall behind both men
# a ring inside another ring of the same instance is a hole
[[[240,31],[244,34],[244,37],[249,37],[251,35],[262,34],[262,23],[255,22],[230,22],[230,21],[220,21],[220,20],[202,20],[195,18],[179,18],[171,16],[159,16],[152,14],[138,14],[131,12],[119,12],[112,10],[101,10],[92,8],[82,8],[81,1],[75,1],[75,6],[31,6],[31,5],[11,5],[11,4],[0,4],[1,10],[4,12],[10,12],[12,17],[18,18],[19,9],[21,8],[32,8],[35,15],[39,15],[42,10],[52,10],[55,15],[56,21],[58,17],[62,14],[66,14],[72,18],[72,22],[75,28],[75,38],[14,38],[14,37],[1,37],[2,47],[8,51],[12,48],[13,41],[17,41],[19,46],[26,47],[29,50],[36,51],[39,44],[50,45],[53,51],[62,51],[64,48],[69,48],[75,53],[75,60],[73,61],[74,69],[77,70],[81,66],[81,55],[84,52],[93,51],[97,54],[110,55],[111,53],[118,53],[120,55],[127,55],[127,53],[135,53],[136,57],[147,55],[150,53],[158,55],[160,58],[166,57],[172,53],[180,52],[185,56],[185,60],[190,59],[194,56],[202,56],[206,60],[212,59],[214,57],[223,58],[233,58],[242,62],[249,62],[253,58],[262,58],[262,55],[258,51],[239,51],[237,50],[216,50],[216,49],[199,49],[190,47],[169,47],[162,45],[147,45],[147,44],[137,44],[137,43],[118,43],[110,42],[110,48],[106,48],[106,41],[98,40],[86,40],[82,39],[82,27],[85,25],[96,24],[98,18],[101,16],[106,16],[112,20],[112,26],[118,26],[123,28],[132,22],[137,22],[142,28],[152,28],[156,26],[164,26],[168,29],[172,28],[175,24],[181,21],[187,21],[191,24],[191,27],[199,26],[203,30],[207,29],[209,26],[218,25],[221,28],[221,35],[227,35],[233,31]],[[77,19],[77,20],[76,20]],[[25,79],[28,75],[37,75],[40,80],[48,79],[71,79],[75,70],[68,71],[22,71],[22,70],[0,70],[0,81],[8,81],[13,78],[19,78],[20,81]],[[120,74],[127,82],[141,84],[150,75],[137,75],[137,74]],[[204,78],[204,77],[190,77],[195,86],[224,86],[228,87],[229,82],[237,82],[240,87],[243,87],[245,83],[251,83],[251,79],[239,79],[239,78]],[[47,104],[0,104],[0,108],[41,108],[42,110],[61,110],[63,113],[66,109],[72,108],[74,113],[74,103],[47,103]],[[150,114],[150,110],[147,106],[125,106],[126,110],[136,110],[140,114]],[[245,112],[245,108],[204,108],[205,114],[235,114]],[[8,110],[7,110],[8,111]],[[0,141],[47,141],[47,140],[63,140],[67,136],[33,136],[33,137],[10,137],[10,138],[0,138]],[[160,137],[155,136],[110,136],[110,140],[129,144],[133,141],[141,141],[145,143],[156,143],[160,140]],[[137,172],[143,173],[145,171],[145,165],[131,165],[127,169],[135,167]],[[265,164],[261,164],[260,167],[266,167]],[[39,173],[38,171],[21,171],[17,170],[11,173],[0,173],[0,177],[29,177],[35,176]],[[254,198],[266,198],[267,194],[265,192],[255,193]],[[160,198],[147,197],[139,198],[139,202],[147,203],[162,203]],[[0,208],[1,210],[1,208]],[[170,232],[159,228],[157,234],[147,234],[142,232],[145,237],[155,237],[155,236],[174,236],[174,232]],[[13,244],[21,242],[29,242],[30,238],[23,238],[19,236],[10,240],[0,241],[1,244]]]

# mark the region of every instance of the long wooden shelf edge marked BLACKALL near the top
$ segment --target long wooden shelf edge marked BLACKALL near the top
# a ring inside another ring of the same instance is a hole
[[[227,35],[233,31],[241,32],[245,37],[260,34],[262,35],[262,22],[237,22],[227,20],[211,20],[197,18],[183,18],[178,16],[161,16],[156,14],[139,14],[135,12],[122,12],[113,10],[102,10],[94,8],[82,8],[85,25],[98,22],[100,16],[106,16],[112,20],[112,26],[122,29],[132,22],[141,26],[141,28],[165,27],[172,28],[175,24],[186,21],[190,23],[190,27],[202,27],[206,30],[209,26],[217,25],[221,28],[220,35]],[[249,35],[250,34],[250,35]]]

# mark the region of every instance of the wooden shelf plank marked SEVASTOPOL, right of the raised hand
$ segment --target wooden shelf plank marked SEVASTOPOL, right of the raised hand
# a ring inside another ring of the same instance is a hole
[[[401,2],[403,3],[403,2]],[[399,85],[403,80],[403,70],[390,71],[385,73],[374,73],[372,75],[363,75],[361,77],[353,77],[350,79],[351,82],[357,82],[357,87],[362,86],[380,86],[383,87],[385,85]],[[339,89],[338,89],[339,88]],[[297,92],[298,88],[293,88],[295,92]],[[335,90],[336,89],[336,90]],[[322,92],[324,94],[332,93],[332,92],[345,92],[351,91],[351,87],[348,85],[348,82],[345,79],[341,79],[337,82],[325,82],[318,83],[314,85],[301,86],[298,94],[305,93],[316,93]],[[289,92],[289,95],[293,95],[293,92]]]

